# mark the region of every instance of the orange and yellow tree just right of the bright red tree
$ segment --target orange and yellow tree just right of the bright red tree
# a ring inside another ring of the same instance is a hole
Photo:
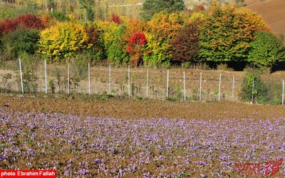
[[[147,22],[147,44],[143,61],[146,66],[169,66],[171,43],[185,23],[184,14],[160,12]]]

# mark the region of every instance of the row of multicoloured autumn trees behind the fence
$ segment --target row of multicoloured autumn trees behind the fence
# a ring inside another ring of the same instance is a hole
[[[249,9],[213,1],[207,8],[186,11],[183,1],[172,0],[152,14],[155,2],[142,4],[141,19],[112,14],[105,21],[82,21],[58,11],[4,19],[1,60],[31,56],[49,63],[85,58],[133,67],[204,63],[211,68],[270,69],[285,58],[282,40]]]

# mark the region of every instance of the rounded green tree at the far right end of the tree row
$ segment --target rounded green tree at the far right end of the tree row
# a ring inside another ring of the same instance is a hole
[[[285,59],[285,48],[281,39],[269,31],[257,31],[257,38],[250,43],[247,61],[259,68],[271,68]]]

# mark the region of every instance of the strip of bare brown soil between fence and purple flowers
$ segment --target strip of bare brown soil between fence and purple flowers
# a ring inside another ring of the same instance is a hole
[[[78,95],[0,95],[0,108],[16,111],[61,112],[73,115],[126,118],[185,119],[272,119],[284,117],[284,106],[250,105],[249,103],[173,102],[169,100],[134,100],[111,98],[98,100]]]

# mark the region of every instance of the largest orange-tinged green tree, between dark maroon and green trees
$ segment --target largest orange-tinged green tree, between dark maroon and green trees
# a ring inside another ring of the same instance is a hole
[[[265,22],[252,11],[212,4],[202,23],[200,57],[211,63],[244,62],[254,33],[264,28]]]

